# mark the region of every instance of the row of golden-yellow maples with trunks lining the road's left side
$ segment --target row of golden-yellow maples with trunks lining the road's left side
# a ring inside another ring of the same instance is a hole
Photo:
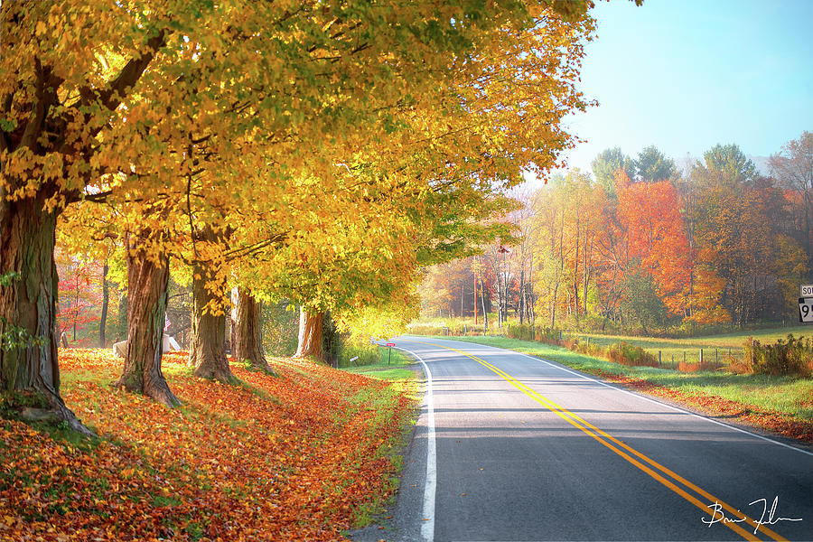
[[[60,395],[57,310],[85,301],[57,247],[126,285],[116,386],[167,406],[171,279],[192,288],[201,378],[233,380],[227,313],[233,356],[270,369],[264,301],[302,308],[300,356],[321,355],[328,312],[402,327],[420,266],[497,238],[484,220],[573,141],[588,7],[0,4],[5,404],[87,431]]]

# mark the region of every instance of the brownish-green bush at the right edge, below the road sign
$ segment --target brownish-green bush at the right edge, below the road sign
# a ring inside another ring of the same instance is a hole
[[[795,375],[809,377],[813,374],[813,341],[788,334],[788,341],[762,344],[752,337],[743,344],[745,364],[758,375]]]

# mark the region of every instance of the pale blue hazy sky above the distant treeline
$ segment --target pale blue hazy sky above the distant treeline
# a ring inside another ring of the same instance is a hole
[[[590,171],[616,146],[655,145],[678,165],[718,143],[767,157],[813,131],[813,0],[611,0],[592,13],[581,89],[600,105],[566,119],[585,140],[568,168]]]

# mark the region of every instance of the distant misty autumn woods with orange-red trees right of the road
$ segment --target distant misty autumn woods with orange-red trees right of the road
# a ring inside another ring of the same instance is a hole
[[[762,174],[737,145],[678,167],[607,149],[521,198],[512,246],[432,269],[424,311],[512,314],[550,329],[664,333],[795,321],[813,266],[813,133]],[[494,317],[492,316],[492,318]]]

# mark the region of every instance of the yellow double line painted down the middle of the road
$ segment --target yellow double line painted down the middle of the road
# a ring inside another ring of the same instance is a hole
[[[564,419],[570,425],[574,425],[575,427],[578,427],[579,429],[584,431],[585,434],[592,436],[593,439],[597,440],[598,442],[612,450],[612,452],[617,453],[622,458],[638,467],[641,471],[646,472],[647,474],[649,474],[649,476],[651,476],[655,480],[659,481],[661,484],[668,487],[668,489],[674,491],[684,499],[688,500],[689,502],[694,504],[698,509],[701,509],[704,512],[706,512],[706,514],[712,511],[710,503],[712,502],[718,503],[722,507],[722,509],[726,510],[731,514],[731,516],[736,518],[728,519],[728,521],[725,521],[723,519],[720,521],[720,523],[722,523],[725,527],[734,530],[734,532],[736,532],[738,535],[745,538],[746,540],[757,540],[757,541],[761,540],[759,537],[756,537],[754,535],[754,532],[761,532],[763,535],[771,537],[773,540],[776,540],[777,542],[787,542],[786,538],[781,537],[779,534],[773,532],[770,528],[765,527],[764,525],[758,523],[755,519],[752,519],[749,516],[743,514],[743,512],[727,504],[726,502],[724,502],[724,500],[721,500],[712,495],[711,493],[709,493],[708,491],[705,491],[697,487],[692,482],[687,481],[682,476],[676,474],[675,472],[670,471],[665,466],[661,465],[660,463],[656,462],[653,459],[650,459],[648,456],[644,455],[643,453],[640,453],[638,450],[635,450],[630,445],[621,442],[614,436],[608,435],[603,430],[599,429],[590,422],[584,420],[582,417],[576,416],[574,413],[568,411],[564,407],[556,405],[556,403],[554,403],[547,397],[537,393],[531,388],[528,388],[528,386],[520,382],[517,378],[510,376],[502,369],[494,367],[488,361],[482,360],[477,356],[472,356],[472,354],[464,352],[463,350],[457,350],[455,348],[443,346],[441,344],[435,344],[432,342],[421,342],[421,344],[428,344],[431,346],[444,348],[446,350],[453,350],[491,369],[492,371],[500,375],[500,377],[508,380],[515,388],[518,388],[522,393],[524,393],[528,397],[531,397],[532,399],[537,401],[537,403],[539,403],[540,405],[545,406],[548,410],[555,412],[556,415]],[[678,484],[681,484],[683,487],[680,487],[680,485]],[[694,491],[697,495],[700,495],[701,497],[706,499],[707,500],[706,503],[704,503],[702,500],[697,499],[695,495],[692,495],[687,490]],[[742,527],[740,527],[741,523],[750,525],[752,527],[752,530],[747,531],[743,529]]]

